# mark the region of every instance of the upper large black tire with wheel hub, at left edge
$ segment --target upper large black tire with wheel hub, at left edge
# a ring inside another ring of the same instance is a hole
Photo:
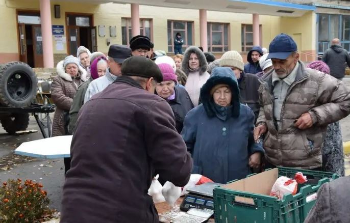
[[[0,66],[0,105],[28,106],[36,92],[36,75],[28,64],[10,62]]]

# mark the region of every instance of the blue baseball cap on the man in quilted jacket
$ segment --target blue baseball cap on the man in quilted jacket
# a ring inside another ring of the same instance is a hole
[[[268,59],[285,60],[292,52],[297,51],[296,43],[287,34],[276,36],[268,47]]]

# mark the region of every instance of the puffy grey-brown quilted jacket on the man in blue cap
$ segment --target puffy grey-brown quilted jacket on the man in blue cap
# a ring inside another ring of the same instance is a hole
[[[295,81],[282,104],[281,127],[273,118],[272,72],[259,88],[260,113],[257,125],[267,126],[263,146],[267,161],[276,166],[315,169],[322,166],[321,148],[327,125],[350,113],[350,94],[342,81],[299,62]],[[292,124],[309,113],[313,126],[301,130]]]

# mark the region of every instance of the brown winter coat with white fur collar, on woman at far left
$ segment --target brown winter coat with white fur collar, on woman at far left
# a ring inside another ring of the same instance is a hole
[[[56,111],[52,123],[52,136],[65,135],[66,119],[65,114],[70,110],[73,97],[78,86],[86,80],[86,70],[79,66],[79,74],[72,78],[63,68],[63,61],[57,64],[57,76],[54,78],[51,87],[51,97],[56,104]]]

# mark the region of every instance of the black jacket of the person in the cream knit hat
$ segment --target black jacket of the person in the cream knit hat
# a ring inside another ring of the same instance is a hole
[[[259,116],[259,93],[260,87],[259,77],[251,73],[244,73],[242,79],[238,82],[241,103],[248,105],[254,112],[254,123],[257,121]]]

